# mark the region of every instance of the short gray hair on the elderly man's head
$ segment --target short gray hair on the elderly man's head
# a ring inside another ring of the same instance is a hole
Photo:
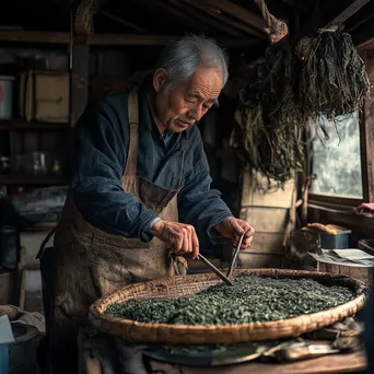
[[[187,35],[164,48],[156,68],[167,71],[166,90],[170,90],[178,82],[186,82],[199,68],[220,70],[225,85],[229,79],[227,65],[227,55],[212,39]]]

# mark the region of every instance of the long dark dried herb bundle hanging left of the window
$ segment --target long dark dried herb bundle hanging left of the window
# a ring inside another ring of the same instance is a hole
[[[239,157],[268,179],[283,185],[304,160],[302,129],[306,121],[300,109],[294,86],[297,63],[293,49],[283,39],[267,49],[239,91]]]

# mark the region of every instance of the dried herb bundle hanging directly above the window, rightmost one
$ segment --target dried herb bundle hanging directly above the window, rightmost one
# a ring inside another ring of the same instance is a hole
[[[319,30],[302,38],[295,52],[301,62],[300,102],[312,118],[336,116],[360,110],[370,92],[364,61],[352,38],[335,28]]]

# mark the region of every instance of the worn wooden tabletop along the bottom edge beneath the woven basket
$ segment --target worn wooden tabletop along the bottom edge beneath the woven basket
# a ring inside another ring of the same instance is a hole
[[[366,357],[363,351],[359,351],[284,364],[253,362],[210,369],[179,366],[153,360],[149,363],[150,373],[157,374],[359,374],[366,369]]]

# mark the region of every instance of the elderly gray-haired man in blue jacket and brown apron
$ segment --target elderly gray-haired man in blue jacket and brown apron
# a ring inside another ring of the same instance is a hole
[[[250,244],[253,227],[210,189],[196,127],[226,81],[223,50],[187,36],[164,49],[138,92],[85,108],[70,194],[40,259],[54,373],[73,373],[77,326],[91,303],[132,282],[186,273],[182,255],[199,254],[196,229],[215,242],[245,235],[243,248]]]

